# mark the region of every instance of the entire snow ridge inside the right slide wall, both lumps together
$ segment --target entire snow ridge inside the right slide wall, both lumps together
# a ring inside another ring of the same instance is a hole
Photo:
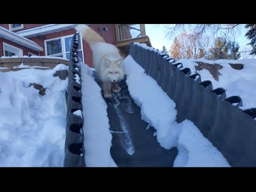
[[[175,122],[177,110],[173,100],[153,78],[142,74],[143,69],[130,55],[124,60],[124,66],[129,93],[141,107],[141,118],[156,129],[155,135],[162,147],[178,148],[174,166],[229,166],[193,122]]]

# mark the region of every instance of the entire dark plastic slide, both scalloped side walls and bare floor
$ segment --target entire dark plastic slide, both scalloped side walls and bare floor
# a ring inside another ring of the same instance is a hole
[[[77,65],[78,32],[70,49],[69,85],[67,94],[67,126],[65,159],[63,166],[86,166],[84,158],[84,120],[73,114],[86,110],[82,106],[81,85],[75,76],[81,77]],[[158,51],[157,51],[158,52]],[[211,81],[201,81],[199,74],[192,74],[182,63],[173,63],[163,53],[143,49],[130,43],[130,55],[156,80],[163,91],[176,103],[177,122],[185,119],[194,122],[213,146],[217,147],[231,166],[256,166],[256,108],[242,110],[242,98],[238,95],[226,98],[226,90],[213,90]],[[76,70],[78,69],[78,70]],[[97,74],[95,81],[101,86]],[[117,166],[173,166],[177,148],[166,150],[159,146],[154,128],[141,119],[140,107],[131,98],[125,80],[119,84],[121,91],[105,99],[108,108],[110,132],[113,135],[111,156]],[[99,119],[100,121],[100,119]],[[149,128],[149,129],[148,129]]]

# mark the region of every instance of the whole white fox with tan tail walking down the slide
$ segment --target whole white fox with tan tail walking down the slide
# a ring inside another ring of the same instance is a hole
[[[104,39],[92,28],[86,25],[78,25],[76,30],[87,41],[93,53],[93,66],[102,82],[109,84],[119,82],[124,78],[123,57],[115,45],[106,43]],[[112,97],[108,89],[105,89],[105,97]],[[113,87],[114,92],[120,91],[120,87]]]

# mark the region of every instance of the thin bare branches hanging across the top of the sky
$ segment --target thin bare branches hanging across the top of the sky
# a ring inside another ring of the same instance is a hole
[[[171,39],[173,36],[189,31],[191,34],[207,34],[211,37],[221,37],[223,32],[230,36],[239,33],[241,26],[239,24],[172,24],[165,25],[165,35]]]

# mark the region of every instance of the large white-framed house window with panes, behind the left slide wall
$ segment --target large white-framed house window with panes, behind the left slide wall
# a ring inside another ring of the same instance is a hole
[[[52,57],[61,57],[65,59],[69,59],[70,57],[70,45],[72,41],[72,36],[65,36],[55,39],[50,39],[45,41],[45,53],[48,56]],[[82,41],[81,36],[78,36],[79,46],[78,46],[78,57],[84,61],[83,57],[83,49],[82,49]]]

